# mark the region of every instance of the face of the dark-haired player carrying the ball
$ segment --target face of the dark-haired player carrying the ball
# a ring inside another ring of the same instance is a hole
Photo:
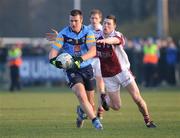
[[[70,22],[70,27],[74,32],[80,32],[81,27],[82,27],[82,16],[76,15],[76,16],[71,16],[69,17],[69,22]]]

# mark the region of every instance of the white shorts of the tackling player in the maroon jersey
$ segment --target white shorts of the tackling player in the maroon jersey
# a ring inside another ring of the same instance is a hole
[[[113,77],[103,77],[103,79],[107,92],[117,92],[120,90],[120,86],[129,85],[134,80],[134,76],[129,70],[124,70]]]

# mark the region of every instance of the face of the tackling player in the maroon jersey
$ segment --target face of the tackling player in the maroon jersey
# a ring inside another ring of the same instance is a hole
[[[103,33],[105,35],[111,34],[116,28],[116,25],[114,24],[114,21],[112,19],[104,19],[103,22]]]

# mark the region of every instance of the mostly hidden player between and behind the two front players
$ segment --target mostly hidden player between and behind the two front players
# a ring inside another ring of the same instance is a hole
[[[91,10],[91,12],[90,12],[90,23],[91,24],[88,27],[93,31],[96,39],[99,37],[100,32],[102,31],[101,21],[102,21],[102,12],[98,9]],[[101,75],[100,61],[97,56],[93,58],[92,67],[94,70],[94,76],[96,78],[96,86],[97,86],[97,91],[98,91],[97,117],[102,119],[104,109],[101,105],[100,96],[105,94],[105,86],[104,86],[104,81],[103,81],[103,78]]]

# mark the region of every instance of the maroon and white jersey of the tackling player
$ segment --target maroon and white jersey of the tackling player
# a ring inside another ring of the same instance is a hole
[[[96,44],[97,56],[101,63],[101,72],[103,77],[113,77],[123,70],[130,68],[130,63],[123,46],[125,39],[120,32],[113,31],[109,37],[117,37],[120,43],[117,45]],[[103,33],[97,40],[103,39]]]

